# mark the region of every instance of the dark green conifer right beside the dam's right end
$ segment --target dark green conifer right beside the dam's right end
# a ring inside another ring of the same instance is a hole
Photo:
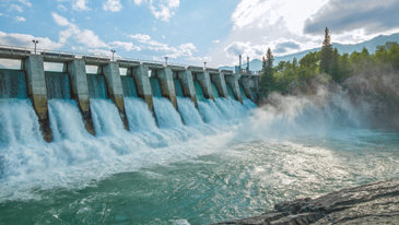
[[[262,58],[262,73],[260,78],[260,95],[268,97],[269,93],[273,88],[273,55],[270,48],[266,54],[266,58]]]

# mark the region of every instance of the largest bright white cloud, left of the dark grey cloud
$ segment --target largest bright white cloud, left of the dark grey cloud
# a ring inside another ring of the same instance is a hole
[[[295,40],[302,49],[319,46],[322,39],[305,35],[305,21],[329,0],[240,0],[232,13],[232,31],[227,38],[214,49],[212,59],[218,63],[237,61],[234,52],[243,52],[250,58],[260,58],[268,47],[272,50],[281,42]],[[227,57],[226,57],[227,56]]]

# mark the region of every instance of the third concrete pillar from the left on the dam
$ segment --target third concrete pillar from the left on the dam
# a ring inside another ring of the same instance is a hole
[[[129,130],[129,122],[125,111],[124,90],[119,74],[119,64],[116,62],[109,62],[103,66],[103,72],[107,83],[109,97],[118,108],[125,129]]]

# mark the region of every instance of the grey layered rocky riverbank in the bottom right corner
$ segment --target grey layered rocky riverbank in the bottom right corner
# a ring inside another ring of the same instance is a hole
[[[399,224],[399,179],[282,202],[261,215],[218,224]]]

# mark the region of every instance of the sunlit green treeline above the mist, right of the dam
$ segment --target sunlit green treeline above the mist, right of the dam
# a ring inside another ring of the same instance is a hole
[[[340,55],[332,48],[329,31],[326,27],[322,48],[309,52],[301,60],[281,61],[273,67],[273,56],[270,49],[263,57],[260,78],[260,100],[266,99],[271,92],[294,94],[297,90],[312,92],[312,83],[336,82],[343,83],[348,78],[378,69],[399,71],[399,45],[386,43],[378,46],[375,54],[366,48],[361,52]]]

